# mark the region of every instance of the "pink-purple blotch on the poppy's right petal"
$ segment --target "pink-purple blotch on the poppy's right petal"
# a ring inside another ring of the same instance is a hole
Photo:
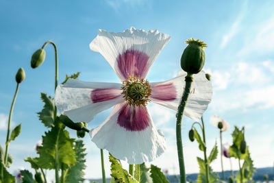
[[[176,99],[177,90],[172,84],[157,84],[151,88],[151,98],[162,101],[173,101]]]

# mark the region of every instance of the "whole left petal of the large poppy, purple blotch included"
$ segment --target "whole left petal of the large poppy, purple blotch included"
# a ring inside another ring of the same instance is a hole
[[[74,122],[89,122],[99,112],[121,103],[121,84],[69,79],[55,90],[54,102]]]

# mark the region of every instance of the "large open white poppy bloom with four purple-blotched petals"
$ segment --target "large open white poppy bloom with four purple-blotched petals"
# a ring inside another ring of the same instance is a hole
[[[90,49],[101,53],[121,83],[68,80],[56,88],[58,110],[74,122],[89,122],[99,112],[114,106],[110,116],[99,127],[90,130],[92,141],[129,164],[154,160],[164,152],[166,145],[164,135],[153,124],[147,103],[152,101],[177,110],[185,84],[186,73],[166,82],[145,80],[170,38],[157,30],[134,27],[118,33],[99,29]],[[179,59],[175,62],[179,66]],[[211,98],[212,86],[201,71],[194,75],[192,94],[184,114],[199,121]]]

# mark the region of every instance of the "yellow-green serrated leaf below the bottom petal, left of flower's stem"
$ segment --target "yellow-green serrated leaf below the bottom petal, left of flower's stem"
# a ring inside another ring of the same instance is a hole
[[[109,156],[110,158],[110,170],[111,170],[111,176],[114,178],[114,181],[116,183],[125,182],[125,183],[138,183],[134,178],[132,178],[132,175],[129,175],[125,169],[122,168],[122,165],[118,160],[116,160],[111,154]]]

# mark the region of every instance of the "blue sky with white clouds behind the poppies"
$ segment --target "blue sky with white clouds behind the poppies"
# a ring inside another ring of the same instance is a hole
[[[38,69],[30,67],[32,53],[47,40],[58,46],[59,80],[66,74],[81,72],[80,80],[119,82],[108,62],[88,45],[97,36],[97,29],[122,32],[129,27],[158,29],[171,35],[171,41],[155,60],[148,80],[169,80],[180,71],[179,59],[186,45],[184,40],[199,38],[208,44],[204,69],[212,74],[214,95],[204,114],[208,147],[219,136],[208,122],[218,114],[232,126],[246,127],[247,144],[256,167],[271,167],[274,162],[274,4],[272,1],[5,1],[0,0],[0,139],[5,143],[5,123],[16,82],[14,76],[23,67],[26,79],[21,84],[12,121],[22,123],[22,131],[10,144],[14,156],[11,171],[29,165],[23,161],[36,156],[34,146],[47,130],[38,121],[42,109],[40,93],[53,96],[54,55],[49,45],[46,60]],[[175,151],[175,112],[149,105],[155,125],[167,140],[168,150],[152,162],[170,173],[178,173]],[[155,113],[153,111],[161,111]],[[96,127],[110,114],[99,114],[88,124]],[[197,172],[196,156],[202,156],[197,143],[187,139],[192,121],[184,118],[183,136],[186,172]],[[75,137],[75,132],[70,131]],[[88,150],[86,178],[99,178],[99,149],[84,138]],[[219,141],[218,141],[219,142]],[[105,152],[105,154],[107,154]],[[107,157],[105,157],[108,160]],[[106,167],[108,167],[108,162]],[[237,169],[236,161],[234,169]],[[225,160],[225,169],[229,161]],[[220,171],[219,160],[212,164]],[[110,170],[107,170],[107,175]],[[49,175],[51,173],[49,172]]]

